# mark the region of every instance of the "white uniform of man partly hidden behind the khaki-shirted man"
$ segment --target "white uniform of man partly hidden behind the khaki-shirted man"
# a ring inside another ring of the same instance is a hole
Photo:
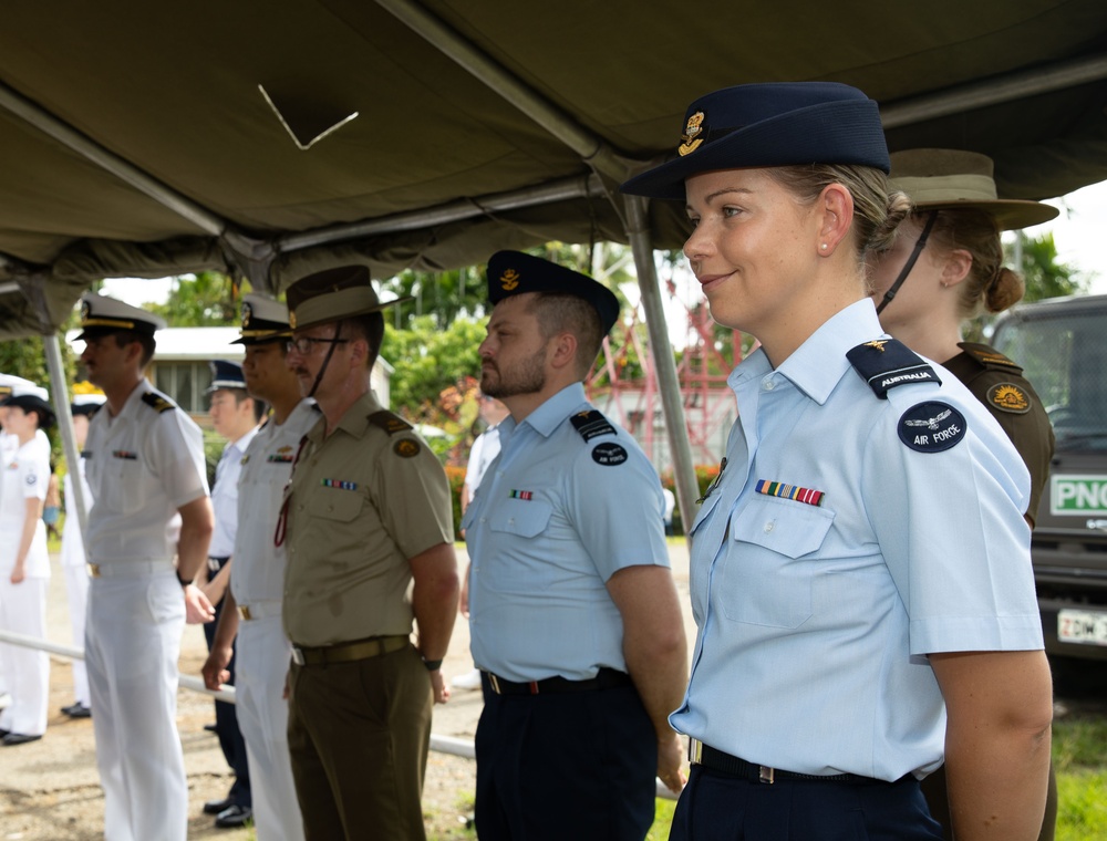
[[[283,424],[270,419],[242,458],[238,484],[238,533],[230,589],[239,613],[235,691],[238,726],[246,739],[259,841],[302,841],[303,823],[288,752],[284,675],[292,646],[281,624],[284,548],[273,546],[284,485],[300,439],[319,413],[301,401]]]

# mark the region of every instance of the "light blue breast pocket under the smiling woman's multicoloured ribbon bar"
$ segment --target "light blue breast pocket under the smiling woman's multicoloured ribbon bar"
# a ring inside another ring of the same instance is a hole
[[[810,619],[819,568],[809,556],[821,548],[832,522],[832,511],[790,500],[761,497],[739,505],[720,571],[724,615],[784,629]]]

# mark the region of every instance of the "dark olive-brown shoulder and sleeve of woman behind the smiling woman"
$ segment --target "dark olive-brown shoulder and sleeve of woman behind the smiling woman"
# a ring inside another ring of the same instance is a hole
[[[1031,500],[1025,513],[1033,528],[1054,450],[1053,427],[1045,406],[1017,363],[986,344],[961,342],[959,346],[963,353],[942,366],[987,406],[1026,463],[1031,471]]]

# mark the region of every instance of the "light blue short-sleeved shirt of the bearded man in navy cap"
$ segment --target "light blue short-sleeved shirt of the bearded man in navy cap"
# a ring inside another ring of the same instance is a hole
[[[625,672],[607,581],[669,565],[658,474],[614,424],[586,440],[571,417],[591,408],[575,383],[521,424],[505,419],[465,511],[473,660],[508,681]]]

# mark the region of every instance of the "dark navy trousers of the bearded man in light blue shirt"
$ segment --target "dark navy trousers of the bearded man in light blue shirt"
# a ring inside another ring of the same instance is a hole
[[[658,737],[638,692],[496,695],[477,725],[480,841],[642,841]]]

